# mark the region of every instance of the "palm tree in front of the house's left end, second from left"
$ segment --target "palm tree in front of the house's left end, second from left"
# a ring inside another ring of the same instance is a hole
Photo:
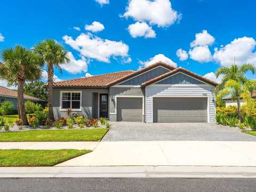
[[[46,39],[45,41],[38,43],[34,50],[46,63],[48,74],[49,118],[53,120],[52,87],[54,67],[61,71],[60,65],[69,62],[68,52],[63,46],[52,39]]]

